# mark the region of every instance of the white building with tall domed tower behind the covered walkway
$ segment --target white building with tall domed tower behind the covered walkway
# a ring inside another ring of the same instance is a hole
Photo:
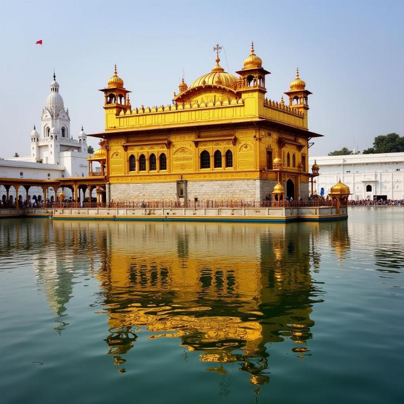
[[[64,107],[55,73],[51,92],[42,110],[39,132],[34,126],[27,139],[29,156],[0,158],[0,178],[53,179],[88,176],[87,136],[81,128],[77,139],[73,138],[69,110]],[[70,196],[70,190],[66,189],[65,194]],[[0,185],[0,199],[4,200],[5,195],[6,189]],[[14,187],[10,189],[10,195],[13,199],[16,197]],[[34,195],[43,197],[41,188],[31,187],[29,197]]]

